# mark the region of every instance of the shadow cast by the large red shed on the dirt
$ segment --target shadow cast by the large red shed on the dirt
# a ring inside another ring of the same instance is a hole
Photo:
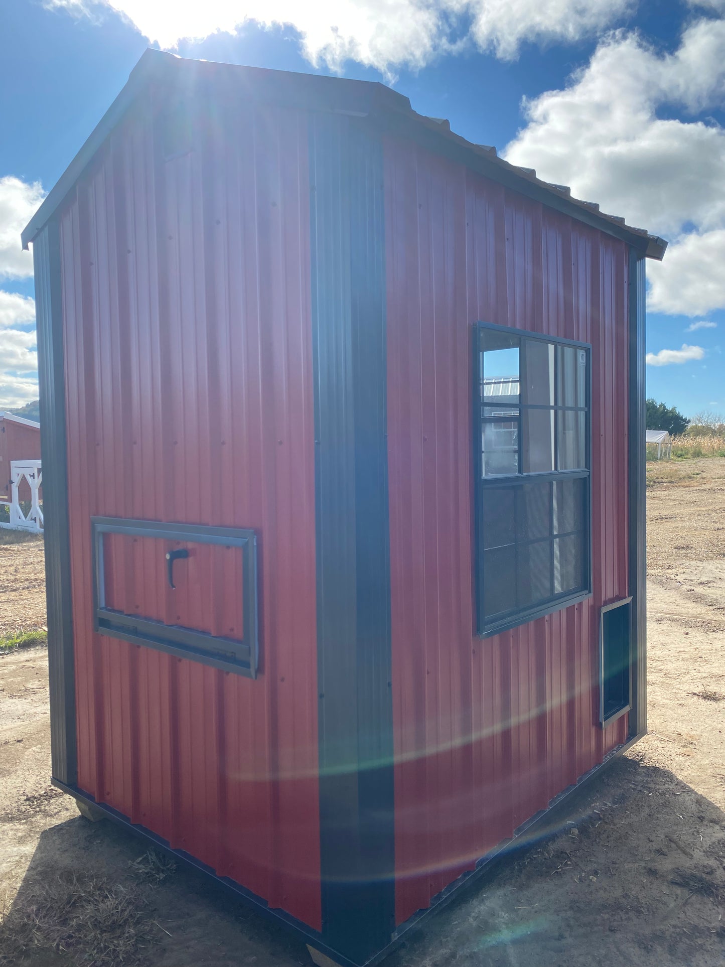
[[[484,880],[414,927],[386,967],[713,967],[725,954],[725,813],[671,772],[621,757]],[[304,945],[183,864],[148,882],[130,830],[80,816],[40,836],[11,913],[73,874],[140,891],[154,967],[293,967]],[[2,954],[2,946],[0,946]],[[83,962],[30,947],[11,962]],[[2,960],[0,959],[0,962]],[[85,962],[88,962],[87,960]],[[134,961],[124,960],[124,967]],[[107,961],[110,965],[112,961]]]

